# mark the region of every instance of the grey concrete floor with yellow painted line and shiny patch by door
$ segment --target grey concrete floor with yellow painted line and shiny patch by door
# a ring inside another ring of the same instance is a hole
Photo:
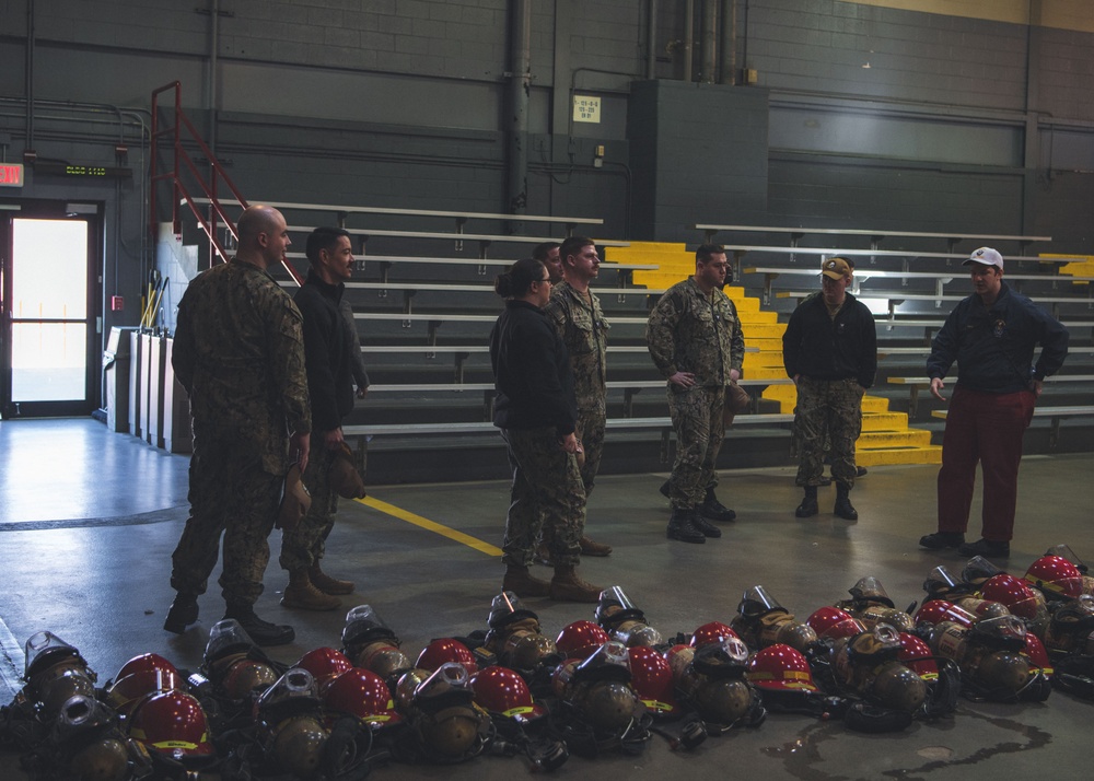
[[[732,438],[725,446],[733,446]],[[163,654],[178,666],[200,663],[209,627],[223,610],[214,584],[200,599],[196,627],[182,637],[162,629],[173,597],[170,556],[187,514],[186,467],[185,457],[91,420],[0,422],[0,701],[10,701],[22,686],[23,643],[43,629],[79,648],[101,681],[143,652]],[[863,575],[876,575],[905,606],[922,597],[932,567],[962,564],[952,552],[916,545],[934,527],[935,474],[933,466],[871,469],[852,493],[858,523],[826,512],[795,518],[800,492],[791,469],[723,474],[719,494],[740,520],[723,527],[721,539],[701,546],[665,538],[668,508],[657,492],[665,475],[605,477],[590,501],[587,532],[615,552],[586,561],[580,573],[603,586],[621,585],[664,634],[690,632],[710,620],[729,622],[742,591],[755,584],[801,618],[843,598]],[[1057,543],[1094,560],[1092,475],[1090,454],[1023,462],[1011,571],[1021,574]],[[823,510],[833,498],[833,489],[822,489]],[[358,583],[345,607],[375,607],[411,658],[433,638],[485,628],[501,583],[492,546],[500,544],[508,482],[375,486],[366,501],[372,500],[387,505],[344,502],[328,541],[325,569]],[[974,516],[978,513],[979,502]],[[974,523],[970,537],[976,531]],[[456,533],[470,539],[461,541]],[[271,654],[288,663],[313,648],[337,646],[345,610],[309,614],[278,604],[284,573],[277,566],[276,533],[271,543],[274,559],[257,610],[296,629],[295,643]],[[592,618],[593,606],[527,602],[552,636],[570,621]],[[654,736],[638,757],[573,757],[557,774],[713,778],[725,776],[733,762],[749,776],[808,781],[1028,781],[1049,768],[1054,776],[1078,778],[1089,772],[1092,708],[1060,692],[1043,704],[963,700],[953,719],[891,735],[771,715],[757,730],[710,738],[694,753],[673,753]],[[521,759],[479,758],[455,767],[388,766],[376,778],[490,781],[526,771]],[[0,750],[0,779],[21,778],[15,756]]]

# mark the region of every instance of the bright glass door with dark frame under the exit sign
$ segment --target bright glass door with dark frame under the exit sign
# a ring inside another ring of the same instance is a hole
[[[3,260],[3,417],[93,408],[86,219],[11,218]]]

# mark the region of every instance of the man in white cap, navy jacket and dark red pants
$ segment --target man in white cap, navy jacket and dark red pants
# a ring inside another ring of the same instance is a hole
[[[1068,331],[1003,282],[1003,258],[980,247],[970,266],[974,294],[961,301],[934,337],[927,374],[945,400],[942,377],[957,361],[939,470],[939,531],[919,540],[931,550],[1006,558],[1014,532],[1022,436],[1045,377],[1063,365]],[[1040,355],[1033,361],[1034,349]],[[981,539],[965,543],[976,465],[984,473]]]

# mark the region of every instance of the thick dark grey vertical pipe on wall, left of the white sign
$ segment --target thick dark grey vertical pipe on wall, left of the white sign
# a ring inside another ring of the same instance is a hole
[[[525,213],[528,206],[528,93],[532,90],[532,8],[531,0],[513,0],[513,26],[510,46],[509,109],[509,187],[508,211]],[[511,225],[512,230],[517,223]]]

